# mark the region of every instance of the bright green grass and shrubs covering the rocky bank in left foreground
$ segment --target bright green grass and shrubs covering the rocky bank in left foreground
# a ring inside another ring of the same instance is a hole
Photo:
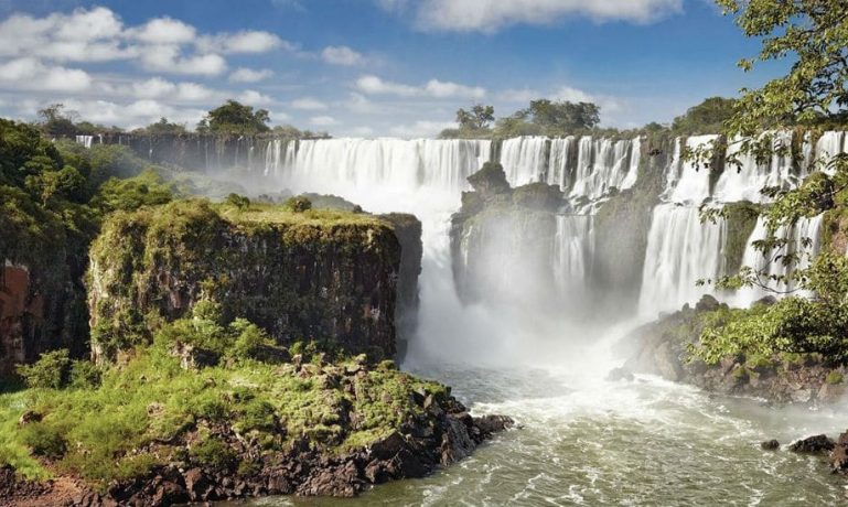
[[[257,326],[218,319],[214,308],[198,308],[101,378],[90,369],[68,373],[62,352],[44,355],[25,369],[30,390],[0,395],[0,463],[28,477],[79,475],[100,488],[173,461],[244,473],[250,463],[236,462],[216,435],[235,432],[268,454],[302,442],[341,452],[418,417],[423,409],[412,392],[447,396],[390,362],[368,367],[364,356],[328,355],[314,344],[291,347],[303,366],[275,360],[280,356],[257,353],[273,347]],[[178,344],[223,356],[185,369]],[[67,375],[69,382],[60,381]],[[24,413],[30,422],[22,425]]]

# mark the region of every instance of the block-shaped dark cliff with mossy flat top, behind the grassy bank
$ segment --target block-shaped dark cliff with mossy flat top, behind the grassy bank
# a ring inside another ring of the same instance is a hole
[[[420,257],[418,268],[401,268],[395,228],[368,215],[240,212],[205,201],[115,215],[90,254],[93,355],[112,359],[208,299],[225,319],[246,317],[281,344],[393,356],[398,287],[415,294],[420,269]],[[405,294],[400,306],[415,298]]]

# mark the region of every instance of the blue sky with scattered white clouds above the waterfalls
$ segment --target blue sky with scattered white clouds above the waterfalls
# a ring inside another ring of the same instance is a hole
[[[0,0],[0,116],[193,128],[234,98],[272,125],[416,138],[544,97],[633,128],[780,74],[737,67],[758,47],[709,0]]]

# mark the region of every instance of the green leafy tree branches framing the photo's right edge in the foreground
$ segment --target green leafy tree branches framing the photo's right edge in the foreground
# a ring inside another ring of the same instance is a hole
[[[844,0],[717,0],[726,14],[737,17],[745,35],[761,40],[759,55],[743,60],[750,71],[758,63],[792,58],[788,72],[755,89],[743,89],[724,133],[737,139],[742,153],[771,157],[769,129],[842,120],[848,114],[848,9]],[[738,137],[738,138],[737,138]],[[788,150],[791,147],[779,147]],[[825,214],[826,233],[844,233],[848,213],[848,157],[834,157],[827,172],[814,172],[797,188],[763,188],[773,203],[764,212],[768,235],[756,248],[771,262],[797,266],[811,257],[813,241],[777,237],[803,217]],[[822,161],[818,161],[822,168]],[[788,252],[786,252],[786,250]],[[848,362],[848,262],[842,251],[824,250],[808,269],[773,276],[743,267],[738,276],[719,280],[720,288],[796,282],[812,291],[813,301],[788,298],[764,310],[752,309],[730,325],[707,330],[701,344],[712,358],[732,353],[739,344],[759,354],[820,353],[827,360]],[[758,315],[756,313],[760,313]],[[745,352],[748,354],[748,352]]]

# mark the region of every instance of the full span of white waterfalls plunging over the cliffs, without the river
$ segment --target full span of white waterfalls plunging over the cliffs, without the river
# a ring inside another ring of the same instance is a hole
[[[724,157],[713,157],[709,164],[696,163],[686,157],[686,152],[710,148],[718,140],[716,136],[681,138],[668,147],[669,161],[661,175],[661,202],[650,213],[644,250],[632,252],[631,257],[644,259],[644,262],[634,263],[638,266],[638,271],[634,273],[641,279],[636,292],[638,303],[635,304],[641,315],[653,316],[687,302],[694,303],[700,294],[712,292],[711,287],[696,287],[698,279],[731,274],[727,272],[730,234],[727,220],[702,220],[702,205],[722,206],[723,203],[739,201],[763,203],[765,198],[760,190],[764,185],[796,185],[815,169],[812,165],[815,158],[828,159],[848,150],[848,139],[840,132],[827,132],[815,143],[807,136],[801,143],[801,160],[796,161],[787,149],[793,145],[793,132],[769,134],[775,147],[770,160],[740,155],[739,140],[730,140]],[[469,314],[469,304],[459,302],[451,272],[451,252],[442,235],[447,235],[450,214],[459,208],[461,192],[470,190],[468,176],[484,162],[497,160],[513,186],[532,182],[556,185],[572,204],[569,211],[563,209],[554,217],[550,231],[544,233],[546,238],[533,234],[541,223],[507,220],[512,225],[507,227],[507,223],[502,223],[500,229],[493,229],[487,236],[477,228],[475,234],[483,236],[474,239],[476,246],[469,242],[469,237],[454,255],[464,256],[464,263],[458,259],[460,265],[469,268],[468,272],[475,273],[468,279],[475,280],[475,289],[482,294],[482,299],[475,299],[472,304],[474,311],[503,313],[503,309],[493,310],[492,306],[486,310],[486,305],[504,302],[508,298],[503,295],[508,295],[511,291],[522,292],[518,289],[523,288],[526,294],[536,291],[537,298],[519,296],[519,304],[513,305],[511,311],[524,313],[533,312],[528,308],[559,305],[557,319],[568,320],[582,311],[580,305],[569,302],[581,298],[586,300],[592,291],[594,282],[591,273],[597,271],[598,256],[603,254],[595,248],[598,235],[603,234],[603,229],[598,230],[591,214],[597,213],[616,191],[637,186],[641,177],[656,177],[640,173],[645,171],[647,161],[655,155],[645,153],[643,145],[644,140],[638,138],[612,140],[588,136],[524,137],[504,141],[272,140],[265,147],[261,171],[279,181],[281,187],[296,192],[331,193],[361,204],[368,211],[400,211],[418,215],[425,224],[426,241],[421,278],[422,314],[432,313],[434,308],[444,312],[444,302],[451,301],[460,306],[453,310],[454,320],[460,321]],[[652,150],[657,151],[657,148]],[[723,159],[734,163],[722,164]],[[813,219],[781,234],[798,238],[817,237],[819,225],[820,218]],[[758,258],[751,247],[752,241],[761,239],[762,231],[762,224],[758,224],[748,238],[743,265],[762,267],[764,260]],[[489,239],[482,246],[481,238],[485,237]],[[537,250],[541,254],[528,250],[528,245],[525,245],[528,238],[530,242],[537,242]],[[818,242],[814,241],[814,246]],[[532,269],[522,267],[522,263]],[[770,265],[769,269],[780,271],[787,268]],[[548,295],[540,296],[543,301],[539,302],[539,294]],[[762,293],[749,290],[723,295],[730,302],[750,304]],[[529,301],[536,302],[525,306]],[[519,311],[519,308],[523,310]],[[612,320],[624,316],[613,315]],[[458,323],[454,331],[465,332],[460,331],[463,325]],[[439,327],[444,334],[444,326]],[[432,335],[428,334],[427,339],[433,339]],[[508,338],[504,337],[504,341],[508,342]]]

